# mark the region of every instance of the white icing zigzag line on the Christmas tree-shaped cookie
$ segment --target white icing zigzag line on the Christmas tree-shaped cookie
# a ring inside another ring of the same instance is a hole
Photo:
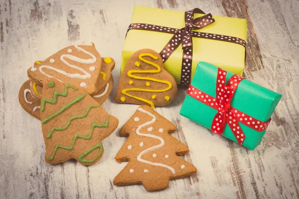
[[[137,160],[140,161],[140,162],[143,162],[143,163],[147,163],[147,164],[150,164],[150,165],[153,165],[153,166],[158,166],[158,167],[164,167],[164,168],[167,168],[169,169],[173,174],[175,174],[175,171],[172,167],[168,166],[168,165],[164,165],[164,164],[161,164],[161,163],[155,163],[155,162],[150,162],[148,160],[144,160],[141,158],[142,155],[146,154],[146,153],[149,153],[149,151],[153,151],[153,150],[156,150],[160,147],[162,147],[165,142],[163,140],[163,138],[159,137],[159,136],[156,136],[156,135],[152,135],[152,134],[146,134],[146,133],[141,133],[140,130],[143,128],[143,127],[146,127],[148,126],[149,124],[152,124],[155,122],[156,120],[156,117],[151,114],[149,111],[146,111],[145,109],[143,108],[138,108],[139,111],[141,112],[144,112],[144,113],[147,113],[149,116],[152,117],[152,119],[146,123],[143,123],[141,125],[138,126],[137,130],[136,130],[136,133],[138,135],[141,135],[141,136],[146,136],[146,137],[151,137],[151,138],[155,138],[155,139],[158,139],[160,140],[160,144],[156,145],[156,146],[152,146],[152,147],[149,147],[148,149],[142,151],[138,156],[137,156]]]

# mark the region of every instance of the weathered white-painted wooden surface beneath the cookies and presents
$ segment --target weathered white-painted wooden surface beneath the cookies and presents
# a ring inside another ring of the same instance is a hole
[[[261,145],[250,151],[180,116],[185,91],[179,87],[176,99],[156,111],[175,124],[173,136],[190,150],[183,158],[198,172],[155,193],[112,184],[127,164],[114,160],[126,140],[118,131],[138,107],[113,101],[134,5],[199,7],[246,18],[244,76],[283,94]],[[299,198],[298,10],[298,0],[0,0],[0,198]],[[103,57],[115,59],[115,86],[103,107],[119,118],[119,127],[103,141],[105,152],[97,164],[49,165],[40,121],[21,108],[18,91],[34,61],[90,40]]]

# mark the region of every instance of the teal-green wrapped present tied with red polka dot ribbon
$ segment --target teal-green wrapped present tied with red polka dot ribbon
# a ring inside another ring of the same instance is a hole
[[[200,62],[180,114],[253,150],[281,98],[239,75]]]

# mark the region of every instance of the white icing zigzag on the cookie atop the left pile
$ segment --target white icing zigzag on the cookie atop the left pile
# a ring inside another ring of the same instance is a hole
[[[86,44],[85,44],[85,45],[86,45]],[[91,43],[91,45],[92,45],[92,43]],[[73,55],[70,55],[70,54],[63,54],[63,55],[60,56],[60,60],[61,60],[64,64],[66,64],[67,66],[69,66],[69,67],[71,67],[71,68],[74,68],[74,69],[77,69],[78,71],[81,71],[84,75],[80,75],[80,74],[78,74],[78,73],[74,73],[74,74],[72,74],[72,73],[67,73],[67,72],[65,72],[65,71],[63,71],[63,70],[56,69],[56,68],[54,68],[54,67],[52,67],[52,66],[47,66],[47,65],[42,65],[42,66],[40,66],[40,67],[38,68],[39,71],[40,71],[40,73],[42,73],[43,75],[45,75],[45,76],[47,76],[47,77],[49,77],[49,78],[55,78],[55,77],[53,77],[53,76],[51,76],[51,75],[46,74],[45,72],[43,72],[42,69],[43,69],[43,68],[47,68],[47,69],[50,69],[50,70],[54,70],[54,71],[56,71],[57,73],[60,73],[60,74],[62,74],[62,75],[65,75],[66,77],[70,77],[70,78],[77,78],[77,79],[82,79],[82,80],[85,80],[85,79],[87,79],[87,78],[90,78],[91,75],[90,75],[87,71],[83,70],[82,68],[80,68],[80,67],[78,67],[78,66],[75,66],[75,65],[72,65],[72,64],[68,63],[68,62],[65,60],[65,58],[70,59],[70,60],[75,61],[75,62],[83,63],[83,64],[92,64],[92,63],[95,63],[95,62],[97,61],[97,58],[96,58],[92,53],[90,53],[90,52],[84,50],[83,48],[79,47],[78,45],[74,45],[74,47],[77,48],[78,50],[81,50],[81,51],[83,51],[84,53],[88,54],[89,56],[92,57],[92,59],[81,59],[81,58],[79,58],[79,57],[76,57],[76,56],[73,56]],[[68,51],[68,52],[69,52],[69,51]],[[35,71],[35,70],[36,70],[36,69],[35,69],[34,67],[31,68],[31,71]],[[57,78],[55,78],[55,79],[57,79]],[[59,80],[59,79],[57,79],[57,80],[60,81],[60,82],[62,82],[62,81]]]

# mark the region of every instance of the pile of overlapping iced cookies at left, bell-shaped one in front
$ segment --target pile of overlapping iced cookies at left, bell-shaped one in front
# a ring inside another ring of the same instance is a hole
[[[100,106],[112,91],[114,67],[114,60],[102,58],[90,43],[68,46],[28,69],[19,102],[42,122],[46,162],[100,160],[101,141],[118,126]]]

